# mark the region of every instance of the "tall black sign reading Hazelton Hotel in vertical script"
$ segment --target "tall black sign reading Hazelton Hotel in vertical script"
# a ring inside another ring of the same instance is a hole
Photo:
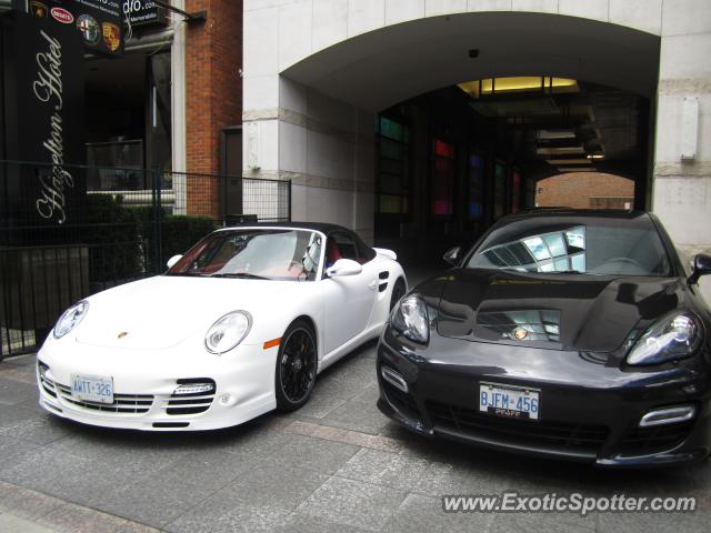
[[[83,47],[77,31],[51,17],[2,17],[3,159],[11,225],[62,227],[84,197]]]

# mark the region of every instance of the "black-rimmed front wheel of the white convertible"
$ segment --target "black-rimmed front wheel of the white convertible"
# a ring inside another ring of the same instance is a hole
[[[309,401],[318,369],[313,328],[303,321],[291,323],[279,345],[274,391],[279,411],[296,411]]]

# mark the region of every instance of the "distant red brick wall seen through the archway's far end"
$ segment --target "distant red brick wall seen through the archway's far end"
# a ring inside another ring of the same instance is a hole
[[[538,182],[539,208],[623,209],[623,200],[634,204],[634,182],[602,172],[570,172]]]

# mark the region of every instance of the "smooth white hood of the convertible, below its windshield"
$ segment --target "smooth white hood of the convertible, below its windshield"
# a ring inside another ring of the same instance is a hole
[[[291,282],[159,275],[89,298],[77,341],[107,348],[160,350],[204,334],[230,311],[254,308]],[[120,335],[120,333],[123,333]]]

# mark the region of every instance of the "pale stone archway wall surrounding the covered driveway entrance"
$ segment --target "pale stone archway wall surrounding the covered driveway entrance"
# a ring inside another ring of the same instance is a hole
[[[291,179],[294,219],[369,238],[375,111],[468,79],[572,77],[650,98],[647,204],[678,245],[711,249],[710,54],[705,0],[246,2],[244,175]]]

